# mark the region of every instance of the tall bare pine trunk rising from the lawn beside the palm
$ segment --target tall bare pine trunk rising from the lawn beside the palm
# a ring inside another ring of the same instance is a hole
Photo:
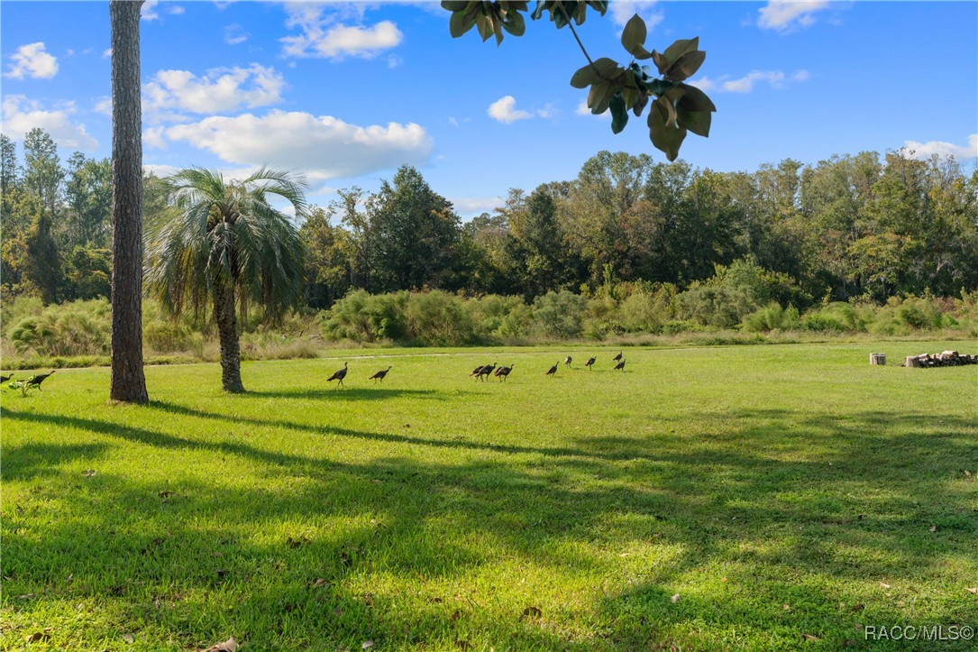
[[[111,0],[112,46],[112,400],[146,403],[143,373],[143,110],[139,11]]]

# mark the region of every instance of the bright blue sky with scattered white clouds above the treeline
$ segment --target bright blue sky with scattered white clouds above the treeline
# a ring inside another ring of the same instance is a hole
[[[531,3],[531,8],[534,3]],[[976,2],[612,2],[580,35],[627,65],[622,25],[646,46],[700,37],[690,82],[718,107],[682,158],[753,170],[793,158],[911,147],[978,157]],[[645,119],[612,135],[568,84],[585,60],[569,30],[528,22],[497,48],[453,39],[438,3],[150,2],[143,8],[144,163],[234,173],[295,170],[309,199],[376,190],[402,163],[464,216],[511,187],[571,179],[598,151],[664,157]],[[105,2],[0,3],[3,132],[46,129],[67,158],[111,148]]]

